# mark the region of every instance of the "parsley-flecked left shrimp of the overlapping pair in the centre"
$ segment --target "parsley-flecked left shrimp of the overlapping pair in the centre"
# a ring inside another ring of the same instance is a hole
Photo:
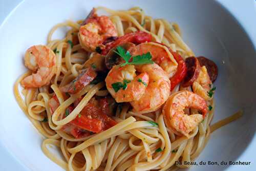
[[[139,82],[138,80],[141,80]],[[117,102],[139,100],[145,93],[148,84],[148,74],[143,72],[136,76],[134,65],[114,66],[106,76],[106,88]],[[144,84],[143,84],[144,83]]]

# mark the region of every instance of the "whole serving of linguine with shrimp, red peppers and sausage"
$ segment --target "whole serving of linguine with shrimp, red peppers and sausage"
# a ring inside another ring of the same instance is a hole
[[[52,39],[60,27],[66,37]],[[195,57],[177,24],[138,7],[57,24],[47,45],[25,52],[25,66],[16,100],[46,137],[42,152],[66,170],[188,167],[212,131],[242,114],[210,125],[216,64]]]

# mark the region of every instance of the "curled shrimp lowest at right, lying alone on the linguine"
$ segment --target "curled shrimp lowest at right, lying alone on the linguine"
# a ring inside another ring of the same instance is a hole
[[[186,115],[183,111],[185,108],[200,110],[202,115]],[[203,120],[207,111],[207,102],[199,95],[186,90],[172,94],[163,108],[166,125],[177,135],[186,137]]]

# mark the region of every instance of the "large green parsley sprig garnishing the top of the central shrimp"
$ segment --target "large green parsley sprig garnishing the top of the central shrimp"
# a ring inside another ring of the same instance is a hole
[[[121,64],[121,67],[125,65],[141,65],[146,63],[154,63],[150,52],[147,52],[146,54],[134,56],[132,58],[132,61],[129,62],[129,60],[132,57],[130,52],[126,51],[120,46],[118,46],[116,49],[117,51],[114,51],[114,52],[117,53],[119,56],[121,56],[125,60],[125,62]]]

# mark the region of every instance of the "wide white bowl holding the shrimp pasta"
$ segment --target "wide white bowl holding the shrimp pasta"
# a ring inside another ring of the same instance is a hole
[[[239,110],[244,116],[217,130],[197,161],[235,161],[255,133],[255,49],[239,23],[213,1],[25,1],[0,29],[1,119],[0,142],[32,170],[62,170],[41,152],[44,139],[19,109],[13,96],[15,80],[27,69],[25,50],[46,44],[49,30],[67,19],[87,16],[96,6],[112,9],[143,8],[147,15],[177,22],[188,46],[198,56],[214,60],[219,68],[215,85],[216,112],[212,123]],[[63,29],[65,31],[65,29]],[[250,161],[250,159],[245,158]],[[255,159],[253,159],[255,161]],[[225,166],[194,166],[190,170],[224,170]],[[255,168],[255,167],[254,167]],[[20,168],[21,169],[21,168]]]

